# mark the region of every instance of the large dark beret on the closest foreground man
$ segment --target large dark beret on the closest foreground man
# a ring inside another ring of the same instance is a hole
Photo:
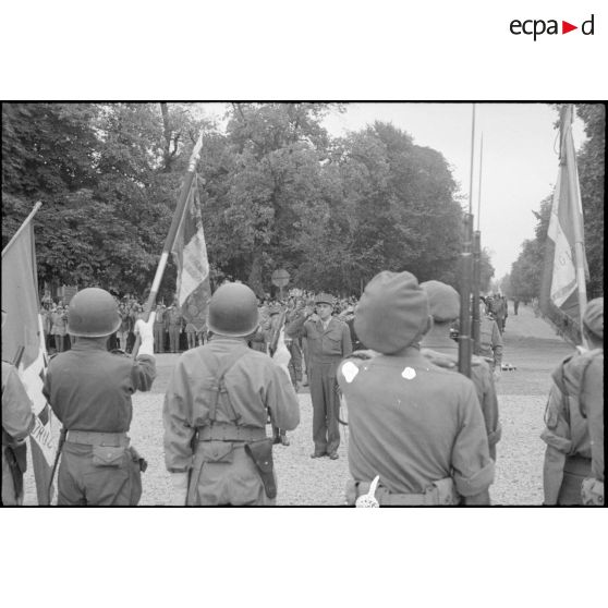
[[[423,333],[428,315],[428,299],[416,277],[384,270],[365,287],[354,329],[368,349],[391,354]]]

